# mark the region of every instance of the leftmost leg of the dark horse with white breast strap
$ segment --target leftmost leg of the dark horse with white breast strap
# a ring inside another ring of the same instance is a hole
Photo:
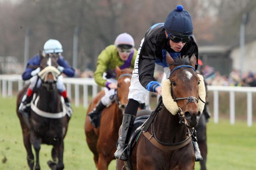
[[[27,127],[22,127],[22,133],[23,133],[23,142],[24,146],[27,150],[27,162],[30,170],[33,170],[34,168],[34,154],[32,152],[31,143],[29,141],[29,133],[28,133]]]

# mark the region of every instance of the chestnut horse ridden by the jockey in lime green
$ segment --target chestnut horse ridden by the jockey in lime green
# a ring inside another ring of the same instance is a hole
[[[100,126],[94,128],[86,116],[84,131],[88,147],[94,154],[94,162],[98,170],[107,170],[108,164],[115,159],[116,141],[118,140],[118,130],[122,124],[124,109],[128,103],[128,93],[132,70],[125,68],[120,70],[116,67],[116,78],[118,80],[118,88],[116,89],[116,101],[109,107],[106,107],[101,114]],[[87,114],[94,109],[96,104],[104,96],[101,91],[88,107]]]

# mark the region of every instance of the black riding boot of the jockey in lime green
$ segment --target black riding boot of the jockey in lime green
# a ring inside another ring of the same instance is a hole
[[[97,128],[100,125],[100,113],[106,106],[100,101],[97,106],[88,114],[90,122]]]

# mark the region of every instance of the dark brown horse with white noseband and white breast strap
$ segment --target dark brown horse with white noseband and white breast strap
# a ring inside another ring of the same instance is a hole
[[[34,168],[33,145],[36,152],[36,170],[40,170],[39,151],[41,144],[52,145],[52,161],[48,161],[51,169],[64,169],[63,151],[64,137],[68,130],[68,116],[56,88],[56,80],[60,72],[56,69],[58,64],[52,57],[42,57],[40,62],[41,72],[38,74],[42,83],[34,95],[30,109],[30,124],[26,125],[18,108],[22,96],[28,86],[24,87],[17,98],[17,115],[22,127],[23,141],[27,151],[27,162],[30,170]]]

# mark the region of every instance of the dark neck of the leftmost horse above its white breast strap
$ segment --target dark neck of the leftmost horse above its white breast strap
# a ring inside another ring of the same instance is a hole
[[[39,100],[37,107],[43,111],[50,113],[57,113],[62,111],[61,100],[58,94],[58,90],[48,91],[45,88],[38,90]]]

